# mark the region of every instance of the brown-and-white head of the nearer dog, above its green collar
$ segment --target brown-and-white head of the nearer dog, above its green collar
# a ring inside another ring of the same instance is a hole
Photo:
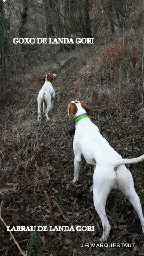
[[[87,114],[91,113],[91,107],[89,105],[86,105],[84,101],[81,101],[81,100],[71,101],[68,104],[69,121],[73,119],[73,116],[77,113],[78,108],[83,108],[87,112]]]

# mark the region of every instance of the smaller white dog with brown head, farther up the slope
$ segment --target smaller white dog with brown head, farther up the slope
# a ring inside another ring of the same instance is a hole
[[[39,91],[37,102],[38,102],[38,121],[41,119],[41,106],[43,103],[43,113],[45,113],[47,121],[49,121],[48,113],[49,110],[52,109],[53,106],[53,100],[55,97],[55,91],[53,89],[53,86],[51,84],[52,81],[55,80],[57,77],[57,74],[55,73],[48,73],[43,77],[43,80],[45,81],[43,87]]]

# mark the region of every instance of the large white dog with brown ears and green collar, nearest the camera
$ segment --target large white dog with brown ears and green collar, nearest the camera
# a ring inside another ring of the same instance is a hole
[[[103,226],[103,235],[100,241],[107,240],[111,229],[107,219],[105,205],[107,196],[113,188],[118,188],[129,199],[135,211],[138,213],[144,233],[144,217],[140,199],[134,188],[132,174],[125,166],[125,164],[138,163],[144,160],[144,155],[133,159],[122,159],[121,155],[102,137],[98,127],[91,122],[86,112],[90,113],[90,107],[83,101],[75,100],[68,104],[69,119],[74,119],[76,125],[73,141],[75,154],[75,175],[73,183],[78,181],[81,155],[83,155],[88,164],[95,165],[93,200],[95,210]]]

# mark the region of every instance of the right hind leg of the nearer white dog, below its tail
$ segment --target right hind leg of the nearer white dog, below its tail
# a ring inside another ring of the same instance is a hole
[[[119,190],[125,195],[125,197],[133,205],[135,211],[138,213],[138,216],[141,221],[142,231],[144,233],[144,217],[142,213],[142,207],[140,203],[139,196],[137,195],[132,174],[125,165],[121,165],[117,169],[117,185]]]

